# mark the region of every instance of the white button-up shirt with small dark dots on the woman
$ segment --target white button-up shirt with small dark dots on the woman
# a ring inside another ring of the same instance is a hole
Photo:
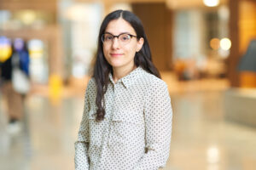
[[[157,170],[165,167],[172,134],[166,82],[137,67],[104,95],[106,115],[96,122],[96,83],[90,79],[75,143],[76,170]]]

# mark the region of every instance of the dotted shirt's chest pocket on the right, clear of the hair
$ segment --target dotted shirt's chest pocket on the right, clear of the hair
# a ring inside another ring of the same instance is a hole
[[[110,121],[108,144],[138,144],[144,141],[143,113],[120,111],[113,113]]]

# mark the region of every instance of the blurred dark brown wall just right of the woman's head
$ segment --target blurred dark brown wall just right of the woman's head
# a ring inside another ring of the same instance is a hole
[[[172,11],[166,3],[131,3],[143,21],[152,59],[160,71],[172,68]]]

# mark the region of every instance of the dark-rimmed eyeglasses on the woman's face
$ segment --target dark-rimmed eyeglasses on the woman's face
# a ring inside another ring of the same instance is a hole
[[[113,43],[113,39],[117,37],[119,40],[119,43],[121,45],[126,45],[127,43],[129,43],[131,41],[132,37],[137,37],[137,36],[133,36],[131,34],[127,34],[127,33],[121,33],[118,36],[113,36],[110,33],[105,33],[102,34],[102,42],[104,44],[112,44]],[[137,37],[138,38],[138,37]]]

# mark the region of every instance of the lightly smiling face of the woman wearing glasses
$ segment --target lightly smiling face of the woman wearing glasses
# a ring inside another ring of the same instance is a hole
[[[119,36],[122,33],[137,36],[130,23],[122,18],[110,21],[105,33],[110,33],[113,36]],[[105,59],[108,60],[109,65],[112,65],[113,69],[132,69],[135,53],[143,47],[143,38],[137,40],[137,37],[131,37],[128,43],[121,42],[119,39],[114,37],[113,41],[103,43]]]

